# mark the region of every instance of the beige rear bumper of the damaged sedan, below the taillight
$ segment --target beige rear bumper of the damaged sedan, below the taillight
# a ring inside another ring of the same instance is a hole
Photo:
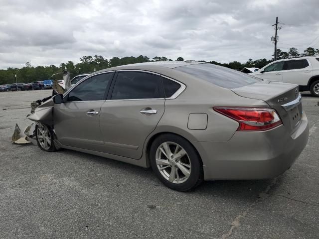
[[[308,142],[305,114],[298,129],[289,134],[284,125],[264,132],[236,132],[225,142],[193,142],[205,180],[266,179],[289,169]]]

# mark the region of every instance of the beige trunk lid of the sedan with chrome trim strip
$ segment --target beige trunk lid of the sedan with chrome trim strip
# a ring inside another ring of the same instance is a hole
[[[302,104],[297,85],[262,81],[232,91],[241,97],[265,101],[277,111],[289,131],[294,132],[298,128],[302,117]]]

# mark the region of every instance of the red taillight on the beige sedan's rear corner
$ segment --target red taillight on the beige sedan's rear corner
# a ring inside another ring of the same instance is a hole
[[[213,107],[213,109],[239,122],[237,131],[263,131],[282,124],[274,109],[243,107]]]

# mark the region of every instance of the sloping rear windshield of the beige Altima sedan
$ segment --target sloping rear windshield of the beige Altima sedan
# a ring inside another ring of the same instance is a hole
[[[228,89],[239,88],[261,81],[245,73],[207,63],[180,66],[174,69]]]

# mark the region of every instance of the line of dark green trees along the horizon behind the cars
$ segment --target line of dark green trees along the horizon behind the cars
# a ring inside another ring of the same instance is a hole
[[[304,50],[303,53],[300,53],[297,48],[292,47],[288,52],[284,52],[280,49],[277,49],[277,59],[287,59],[295,58],[302,56],[315,56],[319,55],[319,49],[314,49],[308,47]],[[178,57],[177,61],[183,61],[182,57]],[[265,65],[272,62],[274,59],[249,59],[246,63],[240,63],[238,61],[233,61],[229,63],[220,63],[217,61],[209,61],[208,63],[216,64],[224,67],[228,67],[235,70],[241,70],[244,67],[257,67],[262,68]],[[164,56],[155,56],[150,59],[147,56],[140,55],[138,57],[113,57],[111,59],[106,59],[101,55],[95,56],[83,56],[80,58],[80,62],[74,64],[73,61],[68,61],[66,63],[61,63],[59,67],[55,65],[50,66],[36,66],[33,67],[29,62],[25,64],[24,67],[18,68],[7,68],[6,70],[0,70],[0,85],[2,84],[11,84],[15,82],[15,77],[17,77],[18,82],[29,83],[34,81],[43,81],[50,79],[51,75],[62,72],[64,69],[67,69],[70,72],[71,78],[82,74],[82,73],[91,73],[94,71],[102,70],[109,67],[121,66],[126,64],[142,63],[142,62],[152,62],[152,61],[172,61],[172,59]],[[206,62],[206,61],[201,61]],[[61,76],[54,76],[54,79],[62,79]]]

